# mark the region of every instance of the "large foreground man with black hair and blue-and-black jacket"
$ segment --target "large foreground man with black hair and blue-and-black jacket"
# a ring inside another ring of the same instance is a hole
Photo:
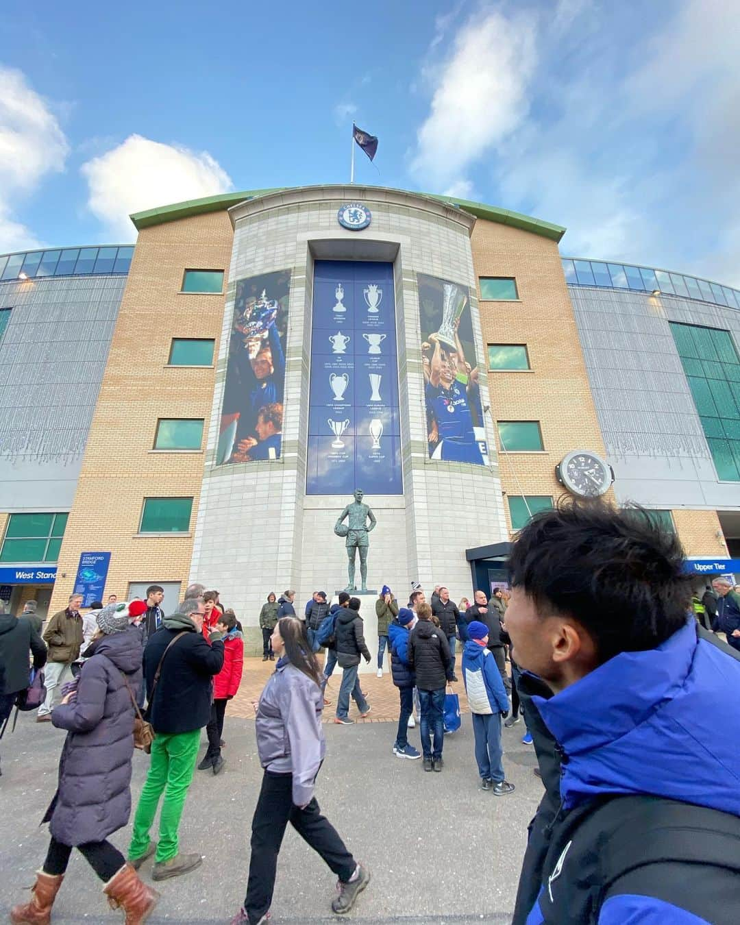
[[[715,717],[740,658],[690,614],[677,537],[573,502],[524,527],[509,568],[513,656],[552,691],[532,706],[561,760],[513,922],[736,922],[740,710],[722,734]]]

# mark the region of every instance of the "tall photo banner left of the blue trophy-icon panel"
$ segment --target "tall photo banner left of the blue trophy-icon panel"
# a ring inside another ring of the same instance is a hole
[[[290,270],[237,279],[216,465],[277,460]]]

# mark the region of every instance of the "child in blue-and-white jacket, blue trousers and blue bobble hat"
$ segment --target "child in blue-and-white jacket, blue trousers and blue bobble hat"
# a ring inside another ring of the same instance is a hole
[[[505,796],[514,791],[514,785],[504,777],[501,760],[501,717],[509,713],[509,697],[496,660],[486,648],[486,623],[474,620],[467,629],[469,638],[462,649],[462,679],[473,714],[475,760],[483,789],[493,789],[496,796]]]

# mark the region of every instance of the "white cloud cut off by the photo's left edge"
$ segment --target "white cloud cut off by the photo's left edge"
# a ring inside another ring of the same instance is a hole
[[[0,66],[0,252],[39,246],[13,216],[20,199],[64,169],[69,146],[56,116],[19,70]]]

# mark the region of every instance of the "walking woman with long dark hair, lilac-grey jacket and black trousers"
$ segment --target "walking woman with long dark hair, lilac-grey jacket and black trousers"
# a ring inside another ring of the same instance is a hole
[[[370,882],[370,871],[351,856],[333,825],[321,815],[314,784],[324,760],[321,726],[323,674],[303,623],[282,617],[273,631],[275,673],[256,712],[260,764],[265,770],[252,820],[252,857],[243,907],[231,925],[265,925],[275,889],[277,856],[288,823],[339,877],[332,911],[349,912]]]

